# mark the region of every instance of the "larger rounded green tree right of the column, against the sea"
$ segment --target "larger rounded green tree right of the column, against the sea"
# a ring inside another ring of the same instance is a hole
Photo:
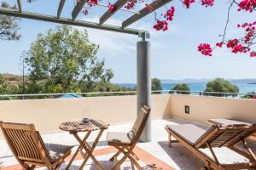
[[[232,84],[229,81],[224,80],[223,78],[216,78],[211,82],[207,82],[207,88],[204,92],[220,92],[220,93],[235,93],[235,94],[214,94],[214,93],[205,93],[205,95],[212,96],[236,96],[236,93],[239,93],[239,88]]]

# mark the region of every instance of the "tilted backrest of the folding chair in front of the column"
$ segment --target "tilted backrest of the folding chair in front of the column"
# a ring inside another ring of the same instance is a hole
[[[127,136],[131,139],[131,143],[137,143],[138,139],[141,137],[144,127],[148,122],[148,116],[151,109],[147,105],[143,105],[140,114],[137,116],[136,122],[133,124],[131,131],[127,133]]]

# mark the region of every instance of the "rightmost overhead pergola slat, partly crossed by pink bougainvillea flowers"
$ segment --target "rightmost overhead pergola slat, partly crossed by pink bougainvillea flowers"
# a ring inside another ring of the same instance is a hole
[[[164,6],[166,3],[170,3],[172,0],[155,0],[153,3],[150,3],[149,6],[151,7],[151,10],[148,10],[147,7],[141,9],[139,11],[139,14],[133,14],[130,18],[127,20],[123,21],[122,23],[122,28],[125,28],[127,26],[130,26],[137,20],[142,19],[144,16],[152,13],[154,10]]]

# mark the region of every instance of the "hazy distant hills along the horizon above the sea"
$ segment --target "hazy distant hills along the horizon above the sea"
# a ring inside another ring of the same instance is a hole
[[[202,79],[193,79],[193,78],[186,78],[182,80],[173,80],[173,79],[163,79],[161,82],[163,84],[177,84],[177,83],[207,83],[209,81],[212,81],[213,79],[207,79],[207,78],[202,78]],[[254,83],[256,82],[256,78],[251,78],[251,79],[227,79],[230,82],[234,83]]]

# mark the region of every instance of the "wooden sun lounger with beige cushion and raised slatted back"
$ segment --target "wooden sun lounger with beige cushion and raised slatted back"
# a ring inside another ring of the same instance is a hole
[[[256,124],[214,124],[207,131],[192,124],[166,125],[165,128],[169,134],[170,147],[175,142],[183,144],[205,162],[206,167],[201,169],[256,169],[256,156],[245,141],[247,137],[256,132]],[[177,140],[172,140],[172,137]],[[237,147],[236,144],[240,142],[243,148]],[[246,157],[249,162],[221,164],[212,150],[213,147],[227,147]],[[200,150],[203,148],[210,150],[212,158]]]

